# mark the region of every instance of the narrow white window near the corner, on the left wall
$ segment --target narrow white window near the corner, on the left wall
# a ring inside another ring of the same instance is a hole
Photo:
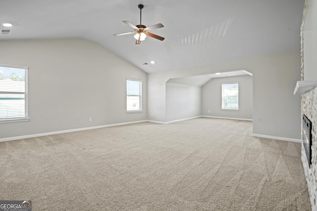
[[[142,81],[127,79],[127,112],[142,112]]]

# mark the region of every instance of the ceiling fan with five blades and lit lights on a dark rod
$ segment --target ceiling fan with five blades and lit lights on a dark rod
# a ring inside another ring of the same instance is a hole
[[[134,38],[136,39],[136,44],[141,44],[141,41],[144,41],[147,36],[158,39],[160,41],[163,41],[165,38],[162,38],[158,35],[152,34],[149,31],[154,30],[154,29],[159,29],[164,27],[163,24],[158,23],[153,26],[146,27],[141,24],[141,17],[142,17],[142,9],[143,9],[143,4],[138,5],[140,9],[140,25],[134,26],[132,23],[129,21],[122,21],[123,23],[127,24],[128,26],[132,27],[134,29],[134,32],[125,32],[125,33],[120,33],[120,34],[115,34],[113,36],[121,36],[121,35],[129,35],[129,34],[135,34]]]

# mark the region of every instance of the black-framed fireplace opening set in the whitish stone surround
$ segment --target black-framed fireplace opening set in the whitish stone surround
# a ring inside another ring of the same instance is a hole
[[[306,152],[308,165],[312,164],[312,122],[303,114],[303,145]]]

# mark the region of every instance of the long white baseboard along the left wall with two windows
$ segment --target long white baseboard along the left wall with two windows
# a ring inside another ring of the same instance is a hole
[[[130,124],[136,124],[136,123],[145,123],[145,122],[148,122],[148,121],[142,120],[142,121],[118,123],[118,124],[111,124],[111,125],[104,125],[104,126],[84,127],[84,128],[67,129],[67,130],[60,130],[60,131],[54,131],[54,132],[45,132],[45,133],[32,134],[32,135],[22,135],[22,136],[15,136],[15,137],[9,137],[9,138],[0,138],[0,142],[13,141],[13,140],[24,139],[24,138],[34,138],[34,137],[46,136],[46,135],[55,135],[55,134],[61,134],[66,132],[77,132],[82,130],[98,129],[103,127],[114,127],[114,126],[123,126],[123,125],[130,125]]]

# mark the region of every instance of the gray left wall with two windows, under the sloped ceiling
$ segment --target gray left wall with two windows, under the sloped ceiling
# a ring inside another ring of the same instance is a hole
[[[30,117],[0,138],[147,120],[147,74],[97,43],[0,41],[0,63],[29,67]],[[127,78],[143,81],[143,113],[126,114]]]

